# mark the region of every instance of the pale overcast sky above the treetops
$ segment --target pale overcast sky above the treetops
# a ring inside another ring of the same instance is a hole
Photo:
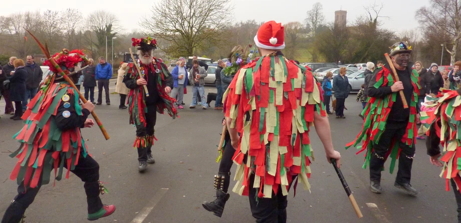
[[[106,10],[117,15],[120,25],[125,32],[133,29],[140,29],[137,21],[142,15],[150,14],[151,1],[91,1],[88,4],[73,4],[68,1],[45,0],[40,3],[32,0],[23,0],[18,4],[2,4],[0,16],[8,16],[12,13],[46,10],[60,11],[66,8],[80,10],[84,16],[87,16],[96,10]],[[237,21],[256,20],[258,22],[275,20],[285,24],[288,22],[303,22],[306,18],[306,12],[311,9],[314,1],[306,0],[230,0],[235,5],[234,15]],[[347,22],[351,24],[355,19],[363,15],[364,6],[373,4],[373,0],[324,0],[323,13],[327,22],[334,21],[334,12],[337,10],[347,11]],[[76,2],[75,2],[76,3]],[[108,5],[110,3],[110,5]],[[386,29],[402,31],[417,28],[419,26],[415,19],[415,11],[422,6],[428,6],[429,0],[387,0],[376,1],[378,5],[384,3],[381,16],[387,16],[388,19],[382,19],[383,27]],[[73,5],[71,5],[73,4]]]

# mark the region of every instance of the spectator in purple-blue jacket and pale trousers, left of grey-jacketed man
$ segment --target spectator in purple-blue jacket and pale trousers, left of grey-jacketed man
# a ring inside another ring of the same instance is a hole
[[[179,109],[183,109],[182,100],[184,98],[184,89],[187,87],[187,68],[185,67],[185,59],[180,57],[176,63],[176,67],[171,71],[171,76],[173,77],[173,90],[171,91],[171,97],[176,98],[176,105]]]

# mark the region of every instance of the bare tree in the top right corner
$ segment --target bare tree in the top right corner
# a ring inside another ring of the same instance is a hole
[[[426,30],[440,37],[450,55],[450,63],[456,61],[457,46],[461,40],[461,2],[457,0],[430,0],[430,7],[416,11],[416,19]]]

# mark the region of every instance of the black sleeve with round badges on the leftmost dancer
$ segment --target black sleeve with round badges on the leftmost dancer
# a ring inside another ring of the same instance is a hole
[[[86,119],[90,115],[90,111],[88,109],[82,109],[82,115],[78,115],[75,111],[75,99],[73,95],[70,95],[70,100],[68,102],[70,103],[69,108],[64,107],[66,102],[61,102],[59,105],[58,112],[55,116],[56,125],[61,131],[83,128]],[[67,118],[63,116],[65,111],[69,111],[71,113],[71,115]]]

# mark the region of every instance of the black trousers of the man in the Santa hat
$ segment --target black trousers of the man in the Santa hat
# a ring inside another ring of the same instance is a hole
[[[296,176],[293,176],[295,179]],[[272,198],[259,198],[259,188],[253,188],[255,181],[255,174],[250,175],[250,191],[248,198],[250,200],[250,208],[252,210],[253,217],[256,218],[256,223],[286,223],[287,222],[287,196],[282,193],[282,186],[279,185],[277,195],[272,191]],[[294,180],[292,180],[293,183]],[[289,188],[291,188],[291,184]],[[272,190],[272,188],[271,188]]]

